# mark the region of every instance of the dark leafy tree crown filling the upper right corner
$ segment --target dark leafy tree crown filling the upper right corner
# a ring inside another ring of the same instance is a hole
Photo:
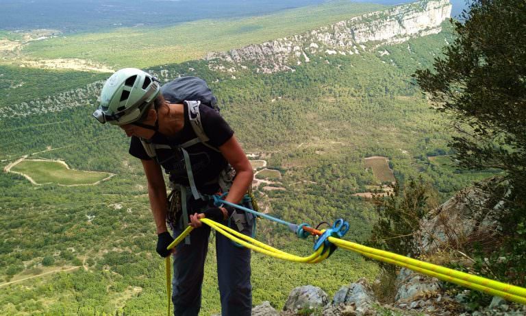
[[[462,134],[451,146],[460,165],[502,169],[515,190],[526,178],[526,5],[521,0],[473,1],[458,37],[436,58],[434,73],[416,71],[438,110]],[[498,27],[497,27],[498,24]],[[525,191],[521,191],[525,193]],[[523,195],[524,196],[524,195]]]

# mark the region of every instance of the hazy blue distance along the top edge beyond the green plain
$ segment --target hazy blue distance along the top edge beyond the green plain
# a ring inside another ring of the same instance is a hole
[[[345,0],[335,0],[345,1]],[[397,5],[412,0],[353,0]],[[450,0],[452,16],[466,7],[464,0]],[[115,27],[174,25],[202,19],[230,19],[271,14],[327,0],[7,0],[0,3],[0,29],[59,29],[86,32]],[[349,1],[352,2],[352,1]]]

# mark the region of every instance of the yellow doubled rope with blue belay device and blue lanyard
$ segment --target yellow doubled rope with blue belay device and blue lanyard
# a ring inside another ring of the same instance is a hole
[[[227,226],[224,226],[221,223],[212,221],[211,219],[201,219],[202,223],[214,228],[216,232],[223,234],[231,241],[238,243],[244,247],[247,247],[256,252],[272,256],[281,260],[288,260],[295,263],[319,263],[322,260],[328,258],[336,248],[342,250],[349,250],[362,254],[368,258],[382,261],[384,263],[389,263],[392,265],[397,265],[399,267],[406,267],[413,271],[416,271],[420,274],[426,276],[431,276],[433,278],[438,278],[446,282],[452,282],[462,287],[467,287],[469,289],[474,289],[481,291],[490,295],[496,295],[503,297],[505,300],[511,302],[526,304],[526,289],[523,287],[517,287],[512,284],[506,284],[496,280],[490,280],[488,278],[483,278],[481,276],[475,276],[473,274],[467,274],[462,271],[457,271],[454,269],[449,269],[447,267],[442,267],[440,265],[434,265],[432,263],[426,263],[421,260],[416,260],[406,256],[401,256],[392,252],[386,252],[384,250],[378,250],[372,247],[366,247],[358,243],[353,243],[351,241],[345,241],[341,239],[345,236],[345,233],[349,231],[349,223],[343,219],[337,219],[331,228],[327,230],[317,230],[309,226],[308,223],[301,223],[299,225],[294,223],[289,223],[282,219],[277,219],[270,215],[266,215],[244,206],[227,202],[223,200],[221,195],[212,195],[214,199],[214,205],[219,206],[221,204],[229,205],[245,212],[249,212],[257,217],[263,217],[276,223],[288,226],[292,232],[295,232],[297,236],[301,239],[305,239],[308,236],[314,236],[314,252],[310,256],[296,256],[294,254],[288,254],[287,252],[278,250],[270,245],[266,245],[260,241],[253,239],[251,236],[246,236],[236,230],[233,230]],[[191,226],[188,226],[177,238],[168,245],[167,249],[171,250],[175,245],[180,243],[183,239],[190,234],[193,230]],[[168,294],[168,316],[170,315],[170,304],[171,304],[171,260],[170,256],[165,258],[166,260],[166,293]]]

